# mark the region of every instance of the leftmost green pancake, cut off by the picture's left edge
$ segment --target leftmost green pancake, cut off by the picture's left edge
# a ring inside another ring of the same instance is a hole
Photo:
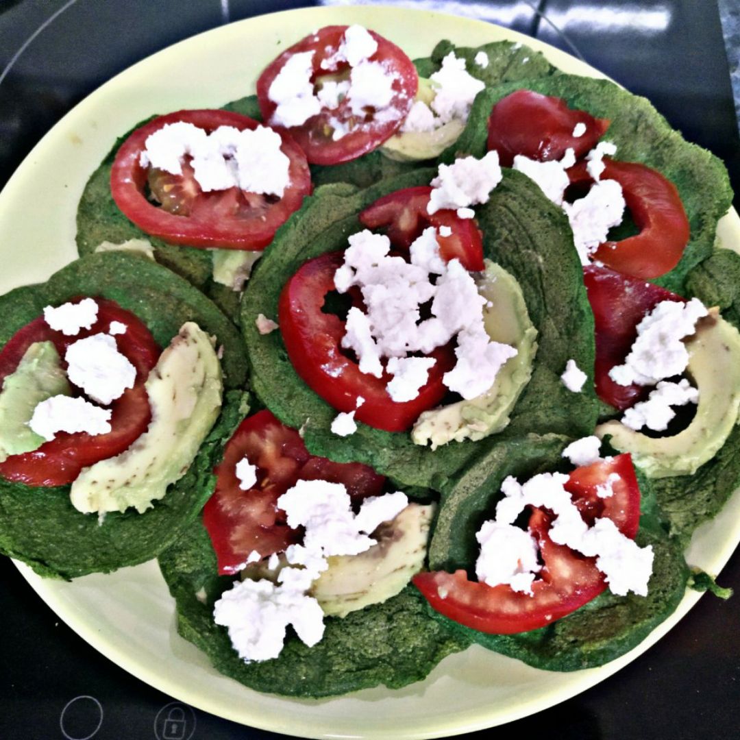
[[[68,485],[34,488],[0,480],[0,551],[43,576],[65,579],[144,562],[178,537],[212,491],[214,461],[239,420],[242,394],[234,389],[243,388],[246,381],[240,334],[216,306],[168,269],[123,252],[77,260],[44,285],[0,297],[0,346],[44,306],[58,306],[79,295],[117,301],[147,325],[159,346],[168,345],[184,322],[195,321],[223,346],[221,364],[229,393],[220,420],[187,473],[145,514],[129,509],[98,521],[97,515],[80,514],[73,507]]]

